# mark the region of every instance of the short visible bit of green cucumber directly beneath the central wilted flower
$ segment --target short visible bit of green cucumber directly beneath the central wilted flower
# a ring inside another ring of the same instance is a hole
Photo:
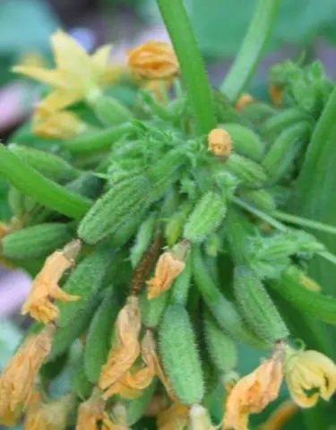
[[[140,310],[142,314],[142,323],[148,329],[155,329],[161,320],[162,314],[168,302],[169,291],[165,291],[158,297],[149,300],[146,292],[143,291],[140,296]]]

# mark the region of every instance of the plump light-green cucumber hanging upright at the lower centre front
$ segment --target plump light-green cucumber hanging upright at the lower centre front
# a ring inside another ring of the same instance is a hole
[[[177,398],[185,405],[200,403],[204,395],[201,360],[185,308],[168,305],[159,327],[159,352]]]

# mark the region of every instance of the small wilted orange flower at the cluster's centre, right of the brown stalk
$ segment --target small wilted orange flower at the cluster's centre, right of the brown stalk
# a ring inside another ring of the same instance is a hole
[[[151,298],[159,296],[170,288],[173,281],[184,269],[185,262],[179,255],[172,251],[161,254],[155,267],[154,277],[146,282],[148,299],[151,300]]]

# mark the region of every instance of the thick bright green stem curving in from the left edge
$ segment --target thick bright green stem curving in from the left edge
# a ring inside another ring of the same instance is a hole
[[[47,208],[70,218],[81,218],[90,208],[89,199],[40,175],[2,144],[0,144],[0,176]]]

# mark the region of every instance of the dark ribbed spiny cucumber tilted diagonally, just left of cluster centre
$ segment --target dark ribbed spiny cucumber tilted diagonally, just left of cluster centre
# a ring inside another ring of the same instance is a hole
[[[116,232],[129,219],[148,204],[151,186],[145,176],[121,181],[93,204],[82,219],[78,236],[87,244],[95,245]]]

